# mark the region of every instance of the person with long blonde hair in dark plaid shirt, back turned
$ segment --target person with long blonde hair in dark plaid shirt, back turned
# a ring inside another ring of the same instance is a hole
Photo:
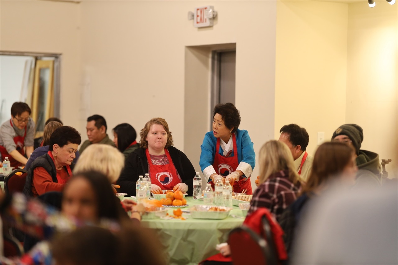
[[[295,169],[288,146],[276,140],[260,149],[260,185],[254,191],[248,214],[265,207],[276,219],[293,203],[301,190],[301,179]]]

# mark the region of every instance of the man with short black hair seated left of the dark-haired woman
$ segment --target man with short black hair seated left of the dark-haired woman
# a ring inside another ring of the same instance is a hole
[[[82,154],[90,144],[109,144],[115,146],[115,143],[109,139],[106,133],[107,126],[104,117],[101,115],[92,115],[87,118],[87,136],[88,140],[85,140],[80,146],[79,153]]]

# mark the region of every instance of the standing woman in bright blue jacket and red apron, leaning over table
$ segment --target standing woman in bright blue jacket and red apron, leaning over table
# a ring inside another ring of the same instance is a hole
[[[205,134],[199,164],[212,186],[229,180],[234,192],[252,193],[250,175],[256,164],[253,142],[246,130],[238,129],[240,115],[232,103],[217,104],[213,111],[213,131]]]

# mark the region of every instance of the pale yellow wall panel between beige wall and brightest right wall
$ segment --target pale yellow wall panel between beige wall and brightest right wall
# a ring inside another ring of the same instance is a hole
[[[277,1],[275,138],[283,125],[306,128],[314,154],[317,133],[330,139],[345,122],[348,4]]]

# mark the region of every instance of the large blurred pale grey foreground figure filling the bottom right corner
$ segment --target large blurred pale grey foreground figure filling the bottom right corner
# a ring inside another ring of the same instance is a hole
[[[398,187],[334,189],[302,220],[295,265],[398,264]]]

